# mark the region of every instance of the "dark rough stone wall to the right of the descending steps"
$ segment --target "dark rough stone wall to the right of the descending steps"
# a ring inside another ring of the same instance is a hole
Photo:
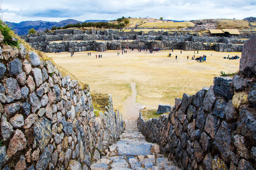
[[[256,168],[256,36],[244,45],[240,72],[175,99],[169,115],[138,127],[182,169]]]

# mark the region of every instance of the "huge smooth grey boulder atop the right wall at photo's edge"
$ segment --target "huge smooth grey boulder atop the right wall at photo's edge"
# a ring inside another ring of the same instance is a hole
[[[240,59],[239,70],[251,77],[256,74],[256,36],[254,35],[250,40],[244,43],[242,57]]]

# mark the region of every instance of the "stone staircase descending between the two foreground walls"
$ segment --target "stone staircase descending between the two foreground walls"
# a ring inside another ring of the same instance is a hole
[[[149,143],[139,132],[137,121],[124,121],[125,129],[106,156],[92,162],[91,170],[180,170],[160,154],[159,145]]]

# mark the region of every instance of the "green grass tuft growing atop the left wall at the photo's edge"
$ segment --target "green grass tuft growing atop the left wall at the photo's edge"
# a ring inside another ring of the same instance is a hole
[[[18,41],[13,41],[14,37],[14,32],[12,31],[11,27],[8,27],[7,24],[4,24],[3,21],[0,21],[0,31],[2,32],[2,35],[4,36],[4,43],[6,45],[10,45],[10,46],[15,46],[18,49],[19,47],[19,43]]]

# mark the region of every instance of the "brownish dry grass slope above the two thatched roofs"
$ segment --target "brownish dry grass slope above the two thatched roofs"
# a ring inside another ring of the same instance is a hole
[[[248,21],[244,20],[217,20],[217,29],[244,29],[249,28]]]

